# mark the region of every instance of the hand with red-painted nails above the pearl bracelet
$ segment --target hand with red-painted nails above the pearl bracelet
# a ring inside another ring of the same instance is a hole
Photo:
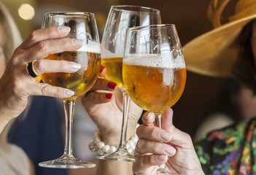
[[[87,96],[82,98],[82,104],[96,123],[101,139],[106,144],[117,146],[120,141],[120,131],[123,121],[123,93],[115,82],[105,79],[106,69],[101,66],[100,77]],[[104,91],[102,91],[104,90]],[[136,123],[141,117],[142,109],[131,101],[128,116],[127,140],[136,131]]]

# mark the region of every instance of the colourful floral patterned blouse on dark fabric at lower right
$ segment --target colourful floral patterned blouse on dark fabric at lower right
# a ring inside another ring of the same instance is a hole
[[[206,175],[256,174],[256,118],[203,136],[195,149]]]

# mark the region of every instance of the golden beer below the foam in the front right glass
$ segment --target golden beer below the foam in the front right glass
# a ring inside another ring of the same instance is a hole
[[[173,106],[185,88],[185,68],[123,64],[125,89],[135,104],[151,112]]]

